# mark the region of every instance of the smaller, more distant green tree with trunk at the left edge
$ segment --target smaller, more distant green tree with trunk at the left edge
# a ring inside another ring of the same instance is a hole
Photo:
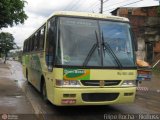
[[[0,33],[0,53],[5,55],[4,63],[6,63],[6,57],[10,50],[16,49],[18,46],[14,42],[14,37],[8,32]]]

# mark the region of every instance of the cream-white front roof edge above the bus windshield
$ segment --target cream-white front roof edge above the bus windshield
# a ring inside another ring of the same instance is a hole
[[[109,20],[118,20],[128,22],[128,18],[113,16],[110,14],[99,14],[99,13],[89,13],[89,12],[73,12],[73,11],[56,11],[49,18],[53,16],[77,16],[77,17],[89,17],[89,18],[100,18]]]

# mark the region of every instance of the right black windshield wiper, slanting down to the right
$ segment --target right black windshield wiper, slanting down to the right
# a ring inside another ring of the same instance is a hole
[[[108,44],[107,41],[104,42],[104,36],[103,36],[103,32],[102,32],[102,46],[103,46],[103,50],[104,51],[109,51],[109,53],[113,56],[113,58],[115,59],[117,65],[119,66],[119,68],[122,68],[122,64],[119,61],[119,59],[117,58],[117,56],[115,55],[115,53],[113,52],[112,48],[110,47],[110,45]],[[104,52],[105,55],[105,52]]]

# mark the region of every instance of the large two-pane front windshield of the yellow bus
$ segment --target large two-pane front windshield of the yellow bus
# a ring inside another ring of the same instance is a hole
[[[60,17],[59,31],[58,65],[135,67],[128,23]]]

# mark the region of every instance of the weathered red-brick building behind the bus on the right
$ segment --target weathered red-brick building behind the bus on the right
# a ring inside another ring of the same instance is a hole
[[[117,8],[113,15],[129,18],[138,41],[137,57],[150,63],[160,59],[160,17],[158,6]]]

